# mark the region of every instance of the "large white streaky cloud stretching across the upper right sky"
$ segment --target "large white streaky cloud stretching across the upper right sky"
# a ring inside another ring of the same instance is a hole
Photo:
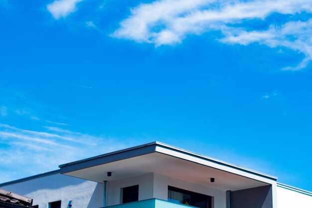
[[[131,15],[111,35],[159,46],[180,43],[190,34],[219,30],[225,35],[221,39],[224,43],[247,45],[259,42],[269,47],[281,46],[302,52],[306,58],[298,66],[285,69],[306,67],[312,59],[312,41],[307,37],[311,34],[310,20],[273,25],[266,31],[249,31],[241,24],[250,19],[265,21],[274,12],[312,12],[312,0],[156,0],[133,8]],[[241,24],[242,28],[232,26],[233,23]],[[292,35],[296,38],[289,38]]]

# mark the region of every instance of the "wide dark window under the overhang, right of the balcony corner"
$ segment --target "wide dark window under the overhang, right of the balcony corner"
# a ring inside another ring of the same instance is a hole
[[[197,208],[211,208],[211,197],[168,186],[168,202],[190,205]]]

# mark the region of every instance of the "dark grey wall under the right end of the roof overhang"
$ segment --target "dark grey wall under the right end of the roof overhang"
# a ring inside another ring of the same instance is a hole
[[[273,208],[271,185],[232,192],[231,208]]]

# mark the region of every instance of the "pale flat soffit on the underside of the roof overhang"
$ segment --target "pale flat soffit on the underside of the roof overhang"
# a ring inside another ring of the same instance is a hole
[[[112,172],[112,176],[107,177],[107,172]],[[102,183],[103,181],[115,181],[148,173],[178,178],[223,191],[236,191],[269,185],[264,183],[263,180],[254,180],[233,174],[233,172],[219,170],[215,167],[209,167],[159,152],[64,174]],[[215,182],[211,183],[210,178],[215,178]]]

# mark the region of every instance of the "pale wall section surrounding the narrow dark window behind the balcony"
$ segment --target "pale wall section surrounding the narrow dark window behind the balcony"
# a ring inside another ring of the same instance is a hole
[[[139,185],[139,201],[153,198],[154,174],[145,174],[107,183],[107,206],[121,204],[121,189]]]

